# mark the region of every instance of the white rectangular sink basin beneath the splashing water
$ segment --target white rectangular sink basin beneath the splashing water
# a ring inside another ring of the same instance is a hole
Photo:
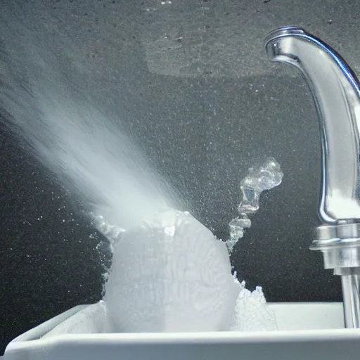
[[[20,335],[9,343],[4,360],[355,360],[360,355],[360,330],[343,328],[341,303],[269,304],[278,331],[151,334],[96,333],[103,327],[99,304],[72,308]],[[86,318],[92,326],[81,330]]]

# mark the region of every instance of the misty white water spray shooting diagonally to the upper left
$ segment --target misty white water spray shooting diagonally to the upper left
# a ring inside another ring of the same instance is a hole
[[[121,108],[118,119],[109,119],[105,106],[89,98],[88,79],[79,76],[85,65],[69,39],[31,24],[20,6],[16,14],[4,7],[0,33],[6,125],[82,200],[105,236],[116,238],[148,214],[180,207],[124,131]]]

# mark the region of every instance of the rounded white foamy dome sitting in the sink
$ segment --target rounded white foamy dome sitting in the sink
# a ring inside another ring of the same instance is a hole
[[[225,243],[188,212],[122,234],[105,288],[114,331],[229,330],[239,287]]]

